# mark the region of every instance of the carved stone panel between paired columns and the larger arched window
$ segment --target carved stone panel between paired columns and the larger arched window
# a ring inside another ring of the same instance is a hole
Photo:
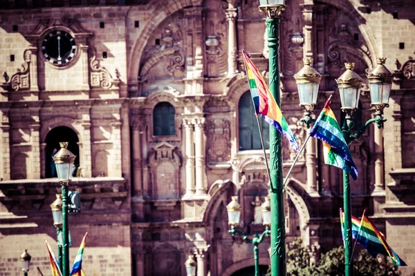
[[[230,159],[230,121],[212,119],[208,121],[209,162],[223,162]]]

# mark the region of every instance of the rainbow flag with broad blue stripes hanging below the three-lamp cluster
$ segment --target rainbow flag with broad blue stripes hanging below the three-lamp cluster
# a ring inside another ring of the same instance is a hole
[[[326,164],[349,172],[351,177],[356,180],[358,178],[358,168],[356,168],[351,158],[349,146],[347,146],[342,130],[329,106],[330,101],[331,96],[315,121],[310,136],[323,141],[324,162]]]

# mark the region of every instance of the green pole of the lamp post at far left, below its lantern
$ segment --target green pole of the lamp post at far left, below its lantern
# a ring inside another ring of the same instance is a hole
[[[69,276],[68,182],[62,183],[62,276]]]

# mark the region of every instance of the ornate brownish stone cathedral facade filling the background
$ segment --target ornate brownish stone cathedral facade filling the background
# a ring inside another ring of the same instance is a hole
[[[363,209],[396,253],[415,262],[415,5],[413,1],[286,0],[280,29],[282,111],[299,144],[293,75],[312,57],[322,75],[315,112],[333,95],[344,62],[364,79],[356,128],[371,118],[365,74],[387,57],[394,84],[387,122],[351,144],[359,170],[352,213]],[[86,275],[247,275],[252,245],[232,239],[225,206],[242,206],[253,235],[255,199],[268,176],[239,50],[268,80],[264,14],[257,0],[0,0],[0,275],[48,273],[44,237],[57,250],[50,204],[60,186],[52,155],[68,141],[71,260],[85,232]],[[268,126],[262,126],[264,136]],[[266,139],[266,146],[269,141]],[[283,139],[284,173],[296,152]],[[311,139],[288,179],[286,240],[321,252],[342,244],[342,172]],[[259,246],[270,264],[269,238]],[[412,268],[402,270],[412,275]],[[47,275],[47,274],[45,274]]]

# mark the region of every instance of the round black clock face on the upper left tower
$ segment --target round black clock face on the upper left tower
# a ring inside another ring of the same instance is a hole
[[[75,57],[75,51],[75,39],[62,30],[50,32],[42,42],[44,57],[57,66],[71,62]]]

